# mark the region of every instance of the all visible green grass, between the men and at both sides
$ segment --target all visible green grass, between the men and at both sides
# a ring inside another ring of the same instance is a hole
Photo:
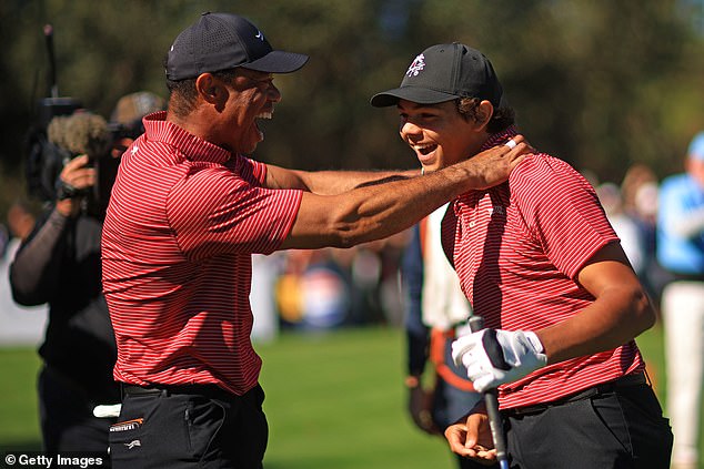
[[[637,341],[664,402],[661,327]],[[255,347],[264,360],[268,469],[455,468],[444,439],[406,415],[401,330],[284,334]],[[33,349],[0,349],[0,450],[39,448],[38,368]]]

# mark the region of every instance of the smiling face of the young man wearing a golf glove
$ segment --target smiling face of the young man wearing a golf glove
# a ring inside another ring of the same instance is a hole
[[[464,119],[454,101],[400,100],[398,109],[401,139],[413,149],[425,173],[471,157],[487,137],[485,125]]]

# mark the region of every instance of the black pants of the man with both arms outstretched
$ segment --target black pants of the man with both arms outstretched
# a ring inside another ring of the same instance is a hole
[[[110,428],[113,468],[262,467],[269,427],[257,386],[234,396],[212,386],[125,387]]]

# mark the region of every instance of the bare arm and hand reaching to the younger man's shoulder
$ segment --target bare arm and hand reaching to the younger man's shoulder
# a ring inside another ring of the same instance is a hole
[[[402,232],[462,193],[505,182],[529,150],[521,136],[514,139],[520,143],[513,149],[494,146],[421,177],[362,186],[356,180],[356,188],[338,195],[303,192],[280,248],[350,247]]]

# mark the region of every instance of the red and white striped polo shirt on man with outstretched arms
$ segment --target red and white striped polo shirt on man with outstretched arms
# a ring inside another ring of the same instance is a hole
[[[266,166],[165,121],[144,119],[112,188],[102,281],[118,343],[114,378],[215,384],[259,379],[251,254],[289,234],[302,193],[262,187]]]

